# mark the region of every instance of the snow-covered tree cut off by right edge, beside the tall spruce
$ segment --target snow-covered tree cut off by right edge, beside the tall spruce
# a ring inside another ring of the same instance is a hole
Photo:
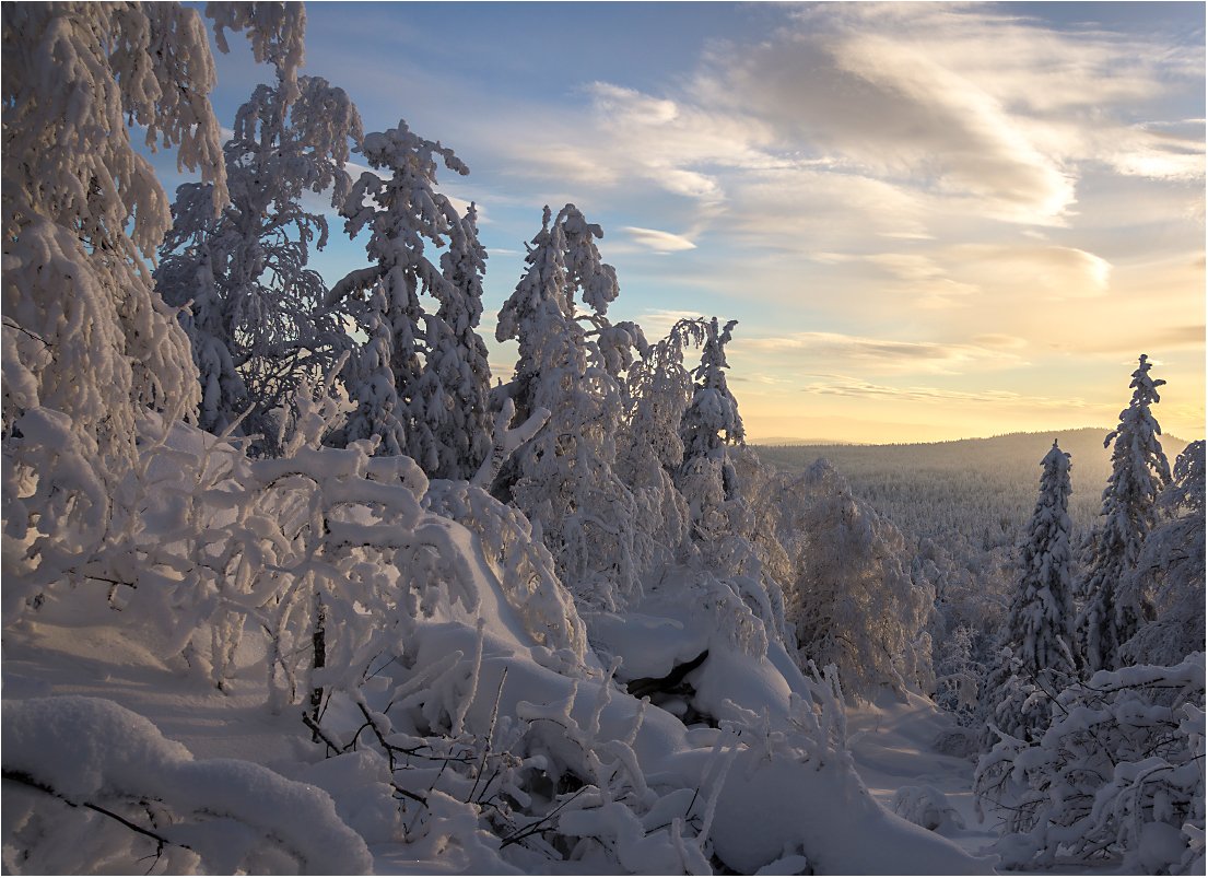
[[[1149,536],[1129,588],[1156,618],[1120,649],[1129,664],[1177,664],[1204,646],[1204,441],[1189,444],[1157,498],[1163,519]]]

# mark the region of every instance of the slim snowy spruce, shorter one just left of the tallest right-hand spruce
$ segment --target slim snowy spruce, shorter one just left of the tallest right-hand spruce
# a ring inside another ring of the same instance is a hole
[[[1023,739],[1049,727],[1052,699],[1075,669],[1069,454],[1053,440],[1040,465],[1040,495],[1020,546],[1020,575],[999,641],[1001,663],[983,693],[993,727]]]

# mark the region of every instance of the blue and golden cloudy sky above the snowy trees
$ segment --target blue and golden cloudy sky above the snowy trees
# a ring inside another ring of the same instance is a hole
[[[1204,435],[1203,4],[307,16],[302,72],[469,165],[440,191],[480,208],[488,339],[542,207],[571,202],[604,228],[614,320],[738,320],[750,441],[1111,428],[1142,353],[1165,431]],[[272,77],[231,45],[226,126]],[[329,283],[366,263],[338,237]]]

